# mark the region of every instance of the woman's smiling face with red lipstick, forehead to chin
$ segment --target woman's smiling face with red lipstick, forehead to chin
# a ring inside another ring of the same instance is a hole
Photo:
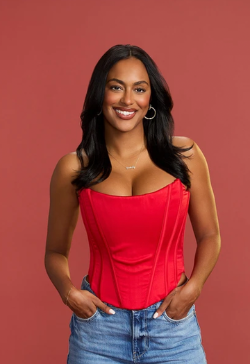
[[[137,58],[120,60],[108,72],[102,109],[104,121],[121,131],[132,130],[147,114],[150,97],[149,75],[144,64]]]

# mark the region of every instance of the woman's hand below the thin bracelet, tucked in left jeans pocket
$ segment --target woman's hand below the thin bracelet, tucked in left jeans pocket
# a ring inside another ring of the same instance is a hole
[[[79,318],[90,318],[97,311],[97,307],[103,312],[113,315],[115,311],[104,304],[99,298],[87,290],[72,288],[67,301],[69,309]]]

